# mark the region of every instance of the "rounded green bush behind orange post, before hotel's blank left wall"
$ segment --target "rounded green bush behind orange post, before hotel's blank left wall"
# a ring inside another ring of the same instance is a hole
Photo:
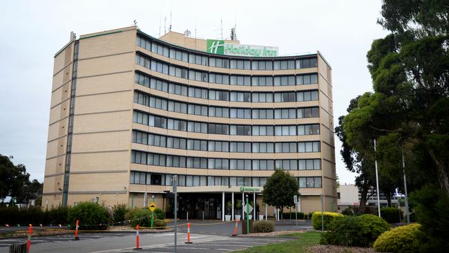
[[[81,202],[68,209],[67,220],[71,225],[75,225],[79,220],[79,229],[106,229],[107,224],[111,221],[111,214],[98,203]]]

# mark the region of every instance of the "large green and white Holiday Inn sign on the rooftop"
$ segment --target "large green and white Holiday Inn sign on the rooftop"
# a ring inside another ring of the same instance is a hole
[[[274,57],[278,56],[278,48],[273,46],[253,46],[225,43],[221,39],[207,39],[207,53],[217,55],[232,55],[246,57]]]

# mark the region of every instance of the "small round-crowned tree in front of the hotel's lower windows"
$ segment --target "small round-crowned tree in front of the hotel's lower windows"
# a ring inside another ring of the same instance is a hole
[[[293,196],[299,196],[298,180],[282,169],[276,169],[263,187],[263,202],[280,209],[294,207]]]

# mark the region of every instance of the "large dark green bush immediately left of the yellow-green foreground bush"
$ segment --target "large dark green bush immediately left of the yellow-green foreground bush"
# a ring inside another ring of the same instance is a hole
[[[329,231],[321,234],[321,243],[370,247],[388,229],[390,225],[386,221],[372,214],[345,216],[329,223]]]

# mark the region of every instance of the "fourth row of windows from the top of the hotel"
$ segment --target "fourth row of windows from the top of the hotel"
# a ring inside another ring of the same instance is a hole
[[[242,119],[296,119],[296,118],[318,118],[318,107],[298,109],[241,109],[219,106],[203,106],[200,104],[187,104],[174,100],[165,100],[135,91],[134,102],[164,111],[176,113],[187,113],[191,115],[202,115],[221,118]]]

